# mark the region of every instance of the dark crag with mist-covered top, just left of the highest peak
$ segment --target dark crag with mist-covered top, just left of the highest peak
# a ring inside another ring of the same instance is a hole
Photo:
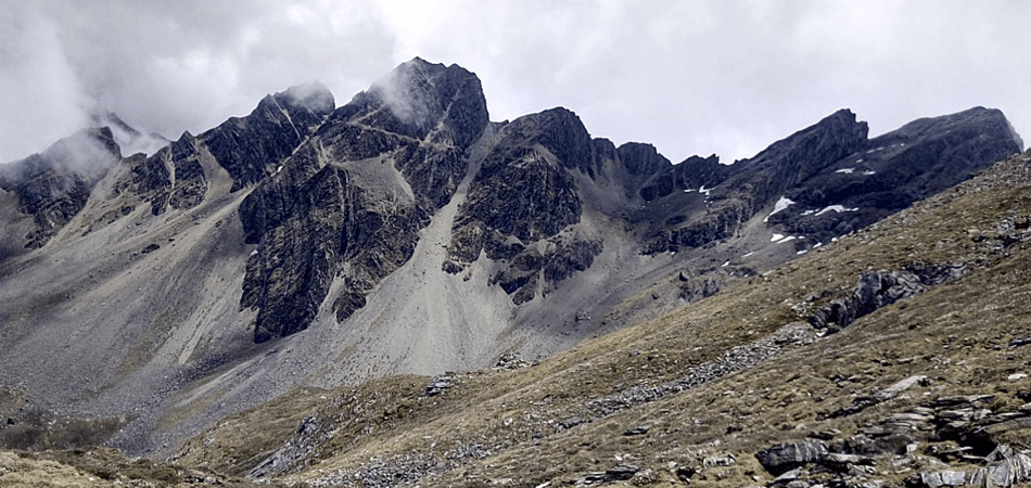
[[[322,85],[291,87],[266,95],[246,117],[233,117],[200,136],[218,164],[232,176],[230,191],[254,184],[314,132],[335,101]]]

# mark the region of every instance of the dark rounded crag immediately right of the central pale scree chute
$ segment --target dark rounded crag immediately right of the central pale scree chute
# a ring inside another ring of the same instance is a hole
[[[559,233],[580,222],[583,203],[570,171],[596,175],[595,146],[580,118],[564,108],[504,127],[459,210],[444,271],[461,272],[481,251],[508,261],[491,283],[521,305],[537,295],[538,282],[551,286],[589,268],[601,241]],[[551,244],[549,251],[538,251],[537,242]]]

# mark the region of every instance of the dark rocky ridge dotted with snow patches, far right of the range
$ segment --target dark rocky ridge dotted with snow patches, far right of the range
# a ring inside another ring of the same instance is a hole
[[[1020,151],[1005,116],[981,107],[916,120],[873,140],[866,136],[865,123],[839,111],[751,159],[722,166],[692,157],[674,166],[645,185],[641,197],[707,188],[708,208],[669,220],[670,228],[655,230],[646,252],[727,239],[781,197],[792,206],[769,216],[769,224],[813,243],[830,242]]]

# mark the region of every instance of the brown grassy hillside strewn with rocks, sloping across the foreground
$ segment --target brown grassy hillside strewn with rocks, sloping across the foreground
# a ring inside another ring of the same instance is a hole
[[[540,362],[298,389],[173,461],[295,486],[1026,484],[1029,203],[1031,152]],[[0,485],[40,455],[3,454]]]

